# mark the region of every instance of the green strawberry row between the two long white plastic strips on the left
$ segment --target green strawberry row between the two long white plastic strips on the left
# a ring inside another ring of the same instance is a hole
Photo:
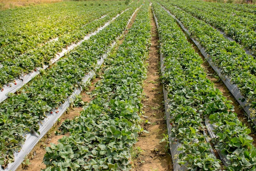
[[[23,134],[37,131],[38,122],[52,109],[57,109],[64,103],[78,87],[83,76],[94,69],[100,56],[126,27],[133,9],[124,12],[108,27],[84,41],[65,58],[42,71],[33,82],[0,104],[1,165],[13,161],[13,151],[19,150],[20,143],[25,141]]]

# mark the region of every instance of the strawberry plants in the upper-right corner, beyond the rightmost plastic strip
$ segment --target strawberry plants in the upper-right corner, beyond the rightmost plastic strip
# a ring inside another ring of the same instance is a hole
[[[211,24],[211,26],[224,31],[226,36],[233,38],[252,54],[256,55],[255,15],[253,15],[253,19],[250,19],[236,16],[236,14],[228,13],[227,11],[215,11],[212,8],[215,3],[212,3],[211,7],[208,8],[202,7],[200,4],[191,5],[191,3],[180,3],[177,0],[172,1],[171,4],[177,5],[177,7]]]

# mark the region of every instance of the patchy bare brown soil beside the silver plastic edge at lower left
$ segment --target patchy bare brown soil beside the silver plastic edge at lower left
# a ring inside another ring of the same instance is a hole
[[[94,83],[99,79],[96,78],[92,81],[91,87],[88,90],[89,92],[94,90]],[[84,102],[90,102],[91,98],[85,91],[81,93],[82,100]],[[80,115],[80,112],[83,110],[82,107],[71,107],[69,108],[60,118],[59,121],[54,124],[52,129],[48,131],[48,133],[36,144],[36,146],[29,153],[28,158],[31,164],[24,165],[21,164],[16,171],[27,170],[27,171],[40,171],[41,169],[45,169],[45,164],[43,163],[43,157],[45,155],[45,147],[50,147],[51,143],[57,144],[58,140],[63,136],[68,136],[69,133],[65,135],[55,135],[55,131],[58,131],[58,128],[61,126],[61,123],[66,119],[73,119],[76,116]]]

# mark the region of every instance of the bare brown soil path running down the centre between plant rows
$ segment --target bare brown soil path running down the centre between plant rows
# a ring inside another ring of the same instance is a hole
[[[144,81],[144,94],[146,96],[143,101],[144,114],[141,115],[143,120],[141,127],[149,133],[139,135],[138,142],[135,144],[134,149],[137,151],[138,157],[133,161],[133,171],[173,171],[171,156],[164,147],[166,142],[159,143],[164,138],[163,134],[167,133],[167,128],[163,87],[159,78],[159,38],[152,11],[150,12],[150,19],[152,37],[147,61],[147,79]]]

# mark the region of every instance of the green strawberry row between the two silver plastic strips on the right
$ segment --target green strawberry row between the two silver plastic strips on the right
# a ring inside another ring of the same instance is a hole
[[[198,20],[190,14],[162,2],[204,50],[209,54],[214,64],[221,70],[221,74],[231,79],[236,84],[240,93],[244,96],[242,102],[248,100],[254,118],[256,108],[256,61],[245,53],[236,42],[225,39],[216,29],[213,29],[202,20]]]

